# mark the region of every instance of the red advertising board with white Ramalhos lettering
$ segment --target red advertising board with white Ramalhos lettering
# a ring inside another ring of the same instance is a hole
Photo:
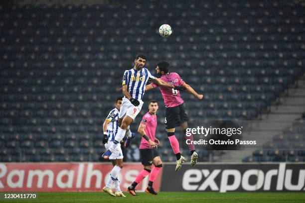
[[[121,189],[127,188],[143,166],[124,165],[120,174]],[[102,191],[108,180],[111,164],[97,163],[0,163],[0,192],[87,192]],[[159,191],[160,175],[154,182]],[[137,187],[144,192],[149,178]]]

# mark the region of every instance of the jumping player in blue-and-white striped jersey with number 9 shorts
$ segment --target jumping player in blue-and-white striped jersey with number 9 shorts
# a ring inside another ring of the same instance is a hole
[[[125,97],[123,98],[123,103],[119,113],[120,127],[114,141],[109,145],[109,150],[102,155],[104,159],[109,158],[117,144],[123,139],[129,125],[141,111],[143,105],[142,99],[149,79],[152,79],[155,84],[165,89],[169,88],[169,90],[180,90],[182,88],[167,84],[152,76],[151,72],[144,67],[145,63],[146,56],[144,54],[138,54],[135,59],[134,68],[131,70],[126,70],[123,75],[122,86],[123,95]]]

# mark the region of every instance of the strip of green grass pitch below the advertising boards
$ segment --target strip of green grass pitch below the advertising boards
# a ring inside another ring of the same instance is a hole
[[[305,203],[305,193],[160,192],[156,196],[137,193],[136,197],[124,193],[126,198],[110,197],[103,192],[36,194],[37,200],[1,199],[0,203]]]

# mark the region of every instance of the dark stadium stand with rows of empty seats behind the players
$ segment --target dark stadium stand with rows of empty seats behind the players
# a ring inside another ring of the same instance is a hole
[[[256,119],[305,72],[304,3],[141,2],[0,7],[1,162],[102,161],[101,125],[139,52],[154,75],[155,64],[168,60],[170,71],[203,93],[201,102],[182,93],[192,120]],[[158,35],[164,23],[173,28],[169,38]],[[161,157],[174,161],[162,96],[144,97],[159,102]],[[133,131],[145,113],[146,104]],[[305,142],[286,130],[283,139]],[[199,157],[208,161],[209,153]],[[243,161],[284,158],[305,161],[305,151],[255,151]]]

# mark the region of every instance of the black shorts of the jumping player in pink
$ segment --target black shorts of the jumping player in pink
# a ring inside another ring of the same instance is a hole
[[[183,103],[175,107],[166,107],[164,120],[166,129],[180,126],[181,123],[188,120],[189,119],[185,113],[185,107]]]

